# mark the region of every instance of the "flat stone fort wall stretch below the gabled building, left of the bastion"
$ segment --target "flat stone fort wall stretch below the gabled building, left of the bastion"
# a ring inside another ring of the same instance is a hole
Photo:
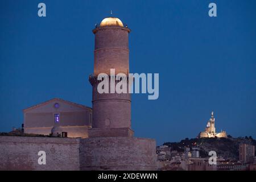
[[[0,170],[79,170],[79,141],[0,136]],[[46,152],[46,165],[38,164],[39,151]]]

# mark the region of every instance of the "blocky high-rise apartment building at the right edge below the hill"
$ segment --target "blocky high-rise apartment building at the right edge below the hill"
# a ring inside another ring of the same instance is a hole
[[[251,144],[242,143],[239,146],[239,160],[243,163],[250,163],[254,161],[255,146]]]

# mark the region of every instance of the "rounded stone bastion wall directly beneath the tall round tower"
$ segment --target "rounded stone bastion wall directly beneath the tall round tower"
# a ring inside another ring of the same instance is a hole
[[[154,139],[101,137],[81,139],[81,170],[156,170]]]

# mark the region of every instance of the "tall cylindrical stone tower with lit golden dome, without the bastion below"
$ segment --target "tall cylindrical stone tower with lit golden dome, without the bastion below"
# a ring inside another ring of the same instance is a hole
[[[115,75],[129,74],[129,32],[118,18],[105,18],[93,30],[95,34],[94,74],[89,77],[93,86],[93,130],[89,137],[132,136],[131,97],[129,93],[98,93],[97,76],[115,69]],[[112,77],[115,79],[115,76]],[[117,82],[115,81],[115,84]],[[127,84],[128,85],[128,84]]]

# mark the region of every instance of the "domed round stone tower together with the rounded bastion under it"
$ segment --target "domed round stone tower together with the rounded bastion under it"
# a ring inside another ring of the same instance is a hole
[[[100,73],[106,73],[104,79],[110,77],[110,69],[115,69],[115,75],[129,73],[130,29],[123,27],[118,18],[110,17],[102,20],[93,33],[94,73],[89,77],[93,87],[93,124],[89,138],[80,140],[80,169],[156,170],[155,140],[133,137],[130,94],[97,90],[102,81],[97,79]]]

